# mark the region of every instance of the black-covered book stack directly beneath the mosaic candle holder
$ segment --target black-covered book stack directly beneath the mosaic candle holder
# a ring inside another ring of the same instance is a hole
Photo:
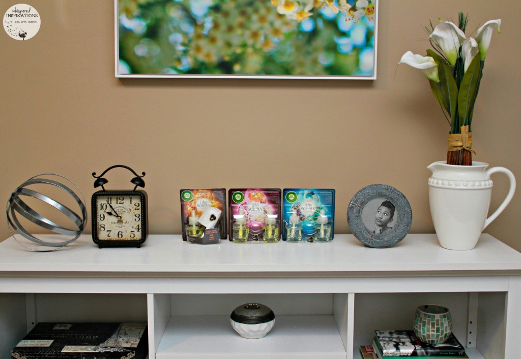
[[[441,344],[427,344],[414,334],[414,330],[376,330],[373,349],[377,359],[390,356],[413,356],[415,359],[468,358],[465,348],[451,334]]]

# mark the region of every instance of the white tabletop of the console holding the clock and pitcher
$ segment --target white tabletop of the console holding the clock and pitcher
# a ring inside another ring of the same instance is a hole
[[[18,238],[18,237],[17,237]],[[43,236],[41,236],[43,238]],[[21,240],[24,240],[21,238]],[[150,235],[141,248],[99,249],[90,235],[54,252],[30,252],[13,237],[0,242],[0,274],[21,272],[307,273],[509,271],[521,274],[521,253],[490,235],[475,249],[442,248],[434,234],[410,234],[398,245],[365,247],[352,235],[326,243],[233,243],[195,245],[180,235]],[[498,272],[498,274],[500,274]]]

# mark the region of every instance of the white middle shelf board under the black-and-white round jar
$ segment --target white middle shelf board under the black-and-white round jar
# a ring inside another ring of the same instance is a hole
[[[245,339],[230,317],[171,316],[156,358],[345,359],[346,351],[332,315],[278,315],[264,338]]]

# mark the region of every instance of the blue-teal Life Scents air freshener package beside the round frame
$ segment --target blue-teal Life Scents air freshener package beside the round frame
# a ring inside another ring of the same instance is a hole
[[[327,242],[334,232],[334,189],[284,188],[282,239]]]

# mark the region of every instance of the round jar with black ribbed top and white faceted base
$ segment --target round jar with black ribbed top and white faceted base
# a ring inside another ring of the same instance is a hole
[[[231,312],[230,322],[241,337],[258,339],[266,336],[273,328],[275,314],[264,304],[246,303]]]

